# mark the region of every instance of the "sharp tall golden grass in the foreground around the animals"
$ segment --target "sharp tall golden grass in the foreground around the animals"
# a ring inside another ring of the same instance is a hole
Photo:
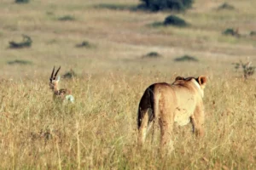
[[[195,139],[188,125],[174,128],[171,156],[160,158],[159,141],[151,144],[150,135],[143,150],[137,148],[137,104],[155,76],[62,82],[73,89],[73,105],[53,103],[47,83],[39,80],[1,82],[0,167],[255,168],[255,86],[241,79],[208,82],[205,138]]]

